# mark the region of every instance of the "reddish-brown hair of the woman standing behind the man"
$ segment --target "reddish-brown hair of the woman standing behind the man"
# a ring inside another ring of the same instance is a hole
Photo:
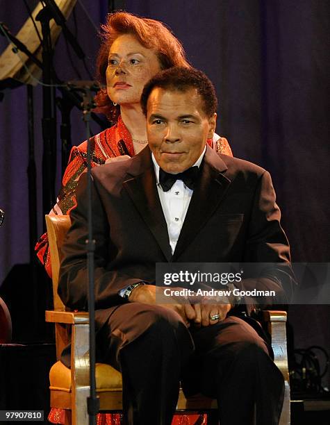
[[[124,34],[131,34],[142,46],[154,49],[160,69],[174,66],[190,67],[181,42],[165,24],[155,19],[138,17],[129,12],[115,12],[107,16],[106,24],[101,25],[102,41],[97,56],[97,80],[101,85],[106,85],[109,49],[116,38]],[[106,114],[108,118],[114,118],[113,102],[109,99],[105,88],[98,92],[95,101],[97,112]]]

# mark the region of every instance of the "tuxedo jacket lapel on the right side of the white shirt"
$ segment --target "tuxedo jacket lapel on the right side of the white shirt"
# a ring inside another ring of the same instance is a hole
[[[227,167],[220,156],[207,147],[204,160],[201,163],[201,176],[192,194],[172,261],[176,261],[185,247],[197,237],[201,228],[220,204],[231,183],[229,178],[222,174],[226,169]]]

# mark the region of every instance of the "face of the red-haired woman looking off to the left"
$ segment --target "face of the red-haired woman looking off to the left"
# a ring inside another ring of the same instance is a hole
[[[119,35],[109,50],[106,69],[108,97],[119,105],[140,103],[145,84],[160,71],[156,53],[131,34]]]

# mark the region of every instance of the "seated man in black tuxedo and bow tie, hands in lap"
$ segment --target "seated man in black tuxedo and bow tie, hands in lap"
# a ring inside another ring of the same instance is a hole
[[[122,372],[125,423],[170,425],[181,381],[186,394],[217,399],[222,425],[278,424],[283,376],[261,331],[235,315],[232,299],[163,303],[155,278],[155,263],[276,263],[258,289],[290,297],[270,174],[206,146],[217,99],[202,72],[160,72],[141,103],[149,147],[92,170],[97,357]],[[86,185],[83,175],[60,269],[72,309],[87,306]]]

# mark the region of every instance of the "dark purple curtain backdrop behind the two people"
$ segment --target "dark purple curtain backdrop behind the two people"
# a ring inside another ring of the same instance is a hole
[[[33,8],[36,1],[27,1]],[[68,19],[94,74],[99,46],[96,26],[108,1],[78,1]],[[165,22],[183,42],[188,59],[215,84],[220,106],[217,133],[228,138],[234,156],[272,174],[295,262],[329,261],[329,75],[328,0],[126,0],[129,12]],[[28,15],[23,1],[0,1],[0,20],[16,34]],[[76,22],[76,24],[75,24]],[[0,51],[7,46],[0,37]],[[75,67],[88,78],[69,49]],[[1,64],[0,64],[1,65]],[[54,67],[63,81],[77,79],[60,36]],[[42,91],[34,88],[35,161],[38,178],[38,234],[42,233]],[[59,118],[59,117],[58,117]],[[99,128],[92,124],[93,133]],[[85,140],[81,113],[72,113],[72,140]],[[29,262],[26,88],[6,91],[0,103],[0,286],[14,265]],[[58,143],[60,184],[60,142]],[[23,266],[22,266],[23,267]],[[24,269],[24,267],[23,267]],[[32,278],[14,273],[6,281],[17,299]],[[41,280],[40,280],[41,282]],[[35,296],[42,293],[35,284]],[[48,283],[46,283],[48,285]],[[47,296],[47,290],[44,290]],[[46,297],[45,296],[45,297]],[[38,308],[44,310],[40,295]],[[41,304],[41,305],[40,305]],[[41,316],[40,316],[41,317]],[[295,347],[317,344],[330,352],[329,306],[292,306]],[[324,385],[329,385],[328,378]]]

